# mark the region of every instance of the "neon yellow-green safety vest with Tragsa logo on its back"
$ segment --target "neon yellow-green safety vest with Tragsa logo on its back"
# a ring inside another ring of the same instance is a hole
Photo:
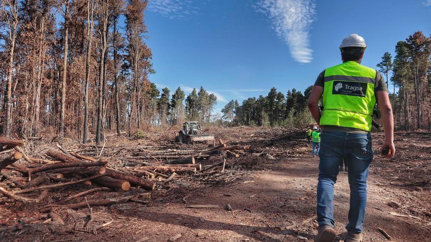
[[[376,70],[349,61],[325,69],[320,125],[371,131]]]

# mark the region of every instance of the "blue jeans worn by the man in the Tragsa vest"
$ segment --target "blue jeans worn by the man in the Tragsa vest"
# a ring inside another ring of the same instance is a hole
[[[334,184],[344,158],[349,166],[350,185],[349,223],[346,229],[360,233],[367,203],[368,168],[374,155],[371,134],[323,131],[320,144],[317,222],[319,225],[335,226]]]

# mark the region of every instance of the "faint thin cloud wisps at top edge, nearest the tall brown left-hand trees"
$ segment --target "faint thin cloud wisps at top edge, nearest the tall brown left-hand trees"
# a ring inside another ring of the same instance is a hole
[[[147,9],[169,19],[186,19],[198,10],[192,0],[149,0]]]

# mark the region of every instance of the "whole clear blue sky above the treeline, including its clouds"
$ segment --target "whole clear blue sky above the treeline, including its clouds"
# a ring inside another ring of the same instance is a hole
[[[431,0],[149,0],[150,81],[171,93],[204,86],[219,111],[272,87],[303,91],[341,62],[338,45],[350,33],[365,38],[362,64],[376,68],[398,41],[429,36],[430,16]]]

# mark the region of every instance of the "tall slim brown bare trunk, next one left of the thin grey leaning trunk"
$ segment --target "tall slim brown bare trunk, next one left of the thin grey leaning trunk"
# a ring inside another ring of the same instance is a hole
[[[64,111],[66,107],[66,75],[67,75],[67,54],[68,54],[68,32],[69,32],[69,0],[64,1],[64,55],[63,55],[63,79],[61,82],[61,110],[60,110],[60,126],[58,129],[59,135],[64,135]]]

